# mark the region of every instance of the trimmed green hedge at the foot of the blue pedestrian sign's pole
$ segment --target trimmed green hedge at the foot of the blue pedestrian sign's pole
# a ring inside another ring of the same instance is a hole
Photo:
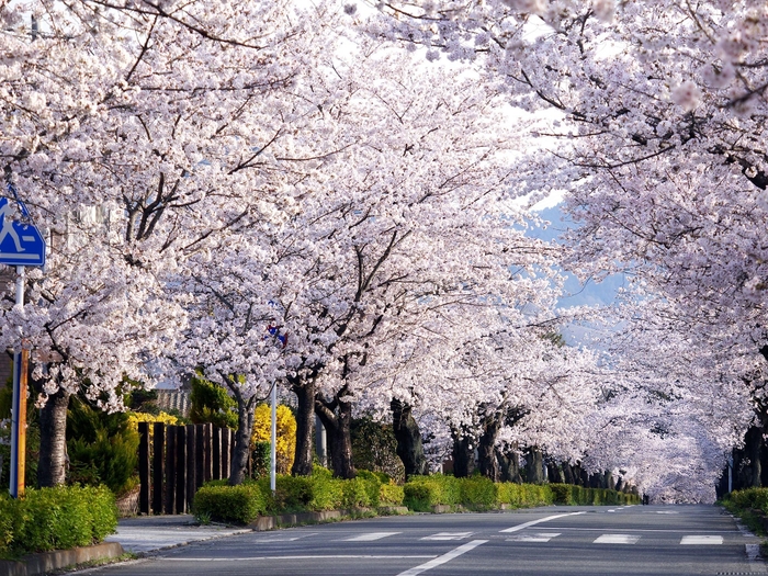
[[[66,550],[102,542],[117,528],[109,488],[61,486],[0,496],[0,557]]]

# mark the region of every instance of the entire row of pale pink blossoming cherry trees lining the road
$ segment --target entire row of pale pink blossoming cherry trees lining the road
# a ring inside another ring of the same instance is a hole
[[[278,386],[294,474],[317,414],[353,475],[366,411],[411,473],[429,433],[492,477],[544,451],[709,497],[763,414],[765,14],[662,4],[0,1],[0,157],[52,235],[0,323],[41,484],[71,394],[202,370],[238,404],[233,483]],[[563,190],[571,242],[527,236],[518,196]],[[640,295],[560,309],[563,263]],[[598,317],[599,353],[562,345]]]

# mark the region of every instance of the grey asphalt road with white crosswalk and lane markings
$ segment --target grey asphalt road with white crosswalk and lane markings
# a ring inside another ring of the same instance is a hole
[[[251,532],[100,568],[104,576],[743,575],[758,540],[714,506],[549,507]]]

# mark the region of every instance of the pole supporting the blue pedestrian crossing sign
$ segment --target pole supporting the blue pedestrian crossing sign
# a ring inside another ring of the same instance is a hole
[[[16,267],[16,305],[24,308],[24,267]],[[21,343],[20,343],[21,346]],[[13,405],[11,410],[11,498],[24,496],[26,452],[26,358],[13,354]],[[23,387],[22,387],[23,384]]]

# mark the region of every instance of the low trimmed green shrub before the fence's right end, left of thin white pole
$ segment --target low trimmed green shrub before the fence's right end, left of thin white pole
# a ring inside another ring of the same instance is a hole
[[[240,486],[206,484],[194,495],[193,509],[197,518],[247,524],[267,511],[267,498],[252,482]]]

